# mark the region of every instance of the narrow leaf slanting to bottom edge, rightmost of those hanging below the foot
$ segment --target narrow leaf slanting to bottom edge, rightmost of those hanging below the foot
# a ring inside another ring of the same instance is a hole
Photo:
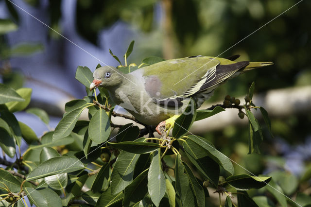
[[[189,185],[194,194],[196,206],[204,207],[205,206],[205,194],[204,194],[204,190],[202,186],[198,183],[197,179],[194,177],[190,167],[185,162],[182,162],[182,164],[184,165],[185,172],[188,175]]]

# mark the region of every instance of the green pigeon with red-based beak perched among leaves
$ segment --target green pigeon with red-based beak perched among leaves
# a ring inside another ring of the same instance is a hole
[[[250,69],[273,65],[272,62],[234,62],[238,57],[190,56],[158,62],[128,74],[105,66],[94,71],[90,90],[106,88],[116,104],[138,121],[157,125],[156,131],[161,135],[160,127],[172,127],[190,98],[198,108],[226,80]]]

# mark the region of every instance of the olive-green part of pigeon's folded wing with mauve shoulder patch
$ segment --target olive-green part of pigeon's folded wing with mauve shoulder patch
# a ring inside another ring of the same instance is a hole
[[[187,98],[216,77],[220,61],[206,56],[192,56],[162,61],[142,68],[145,90],[155,100]]]

